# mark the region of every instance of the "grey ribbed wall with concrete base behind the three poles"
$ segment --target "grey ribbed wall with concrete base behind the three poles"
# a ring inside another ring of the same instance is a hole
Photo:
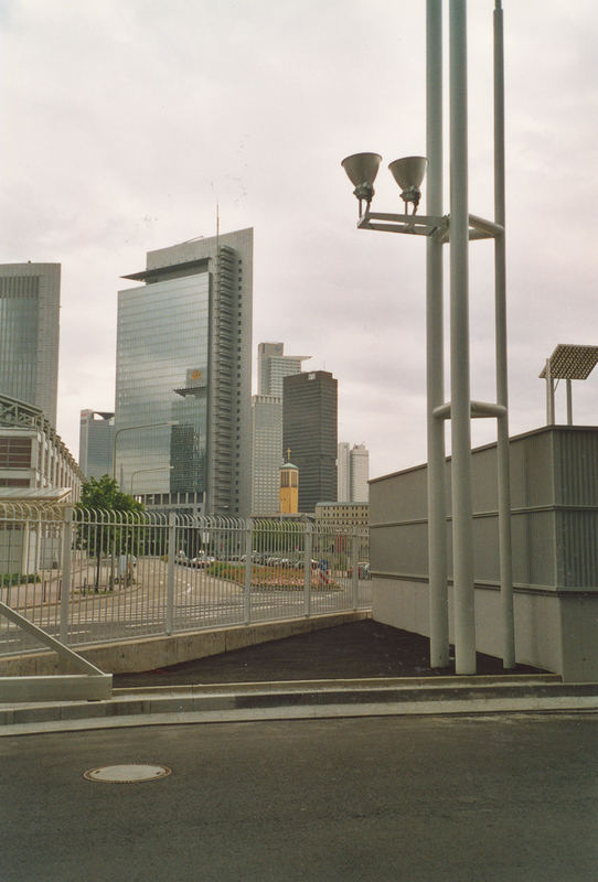
[[[500,657],[495,453],[473,452],[472,486],[477,648]],[[426,481],[423,465],[371,483],[371,560],[374,619],[428,635]],[[450,460],[446,487],[450,506]],[[598,680],[598,428],[513,438],[511,494],[516,660]],[[449,573],[451,538],[448,517]]]

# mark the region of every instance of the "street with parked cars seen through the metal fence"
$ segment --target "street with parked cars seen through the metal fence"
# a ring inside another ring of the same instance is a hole
[[[109,577],[109,563],[103,567],[103,581]],[[158,558],[140,558],[130,585],[118,584],[114,592],[95,593],[89,567],[76,566],[70,604],[68,642],[82,646],[103,641],[128,639],[165,633],[167,563]],[[282,573],[285,571],[282,570]],[[44,628],[52,636],[60,634],[60,580],[43,584],[4,589],[4,602]],[[359,580],[359,604],[371,603],[371,581]],[[328,590],[313,582],[310,594],[312,613],[332,613],[352,606],[352,583],[346,576],[338,577],[335,588]],[[47,596],[43,593],[46,590]],[[10,592],[10,593],[9,593]],[[44,601],[45,596],[45,601]],[[26,612],[25,612],[26,611]],[[250,621],[291,619],[305,614],[302,587],[258,588],[250,591]],[[243,585],[210,574],[205,570],[175,567],[172,595],[174,631],[223,627],[246,622],[246,598]],[[1,623],[0,652],[15,653],[36,649],[34,638],[15,626]]]

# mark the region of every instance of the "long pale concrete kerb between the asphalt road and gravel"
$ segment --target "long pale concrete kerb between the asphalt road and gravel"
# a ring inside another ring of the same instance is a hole
[[[1,704],[0,734],[357,716],[598,711],[598,684],[556,675],[190,685],[100,701]]]

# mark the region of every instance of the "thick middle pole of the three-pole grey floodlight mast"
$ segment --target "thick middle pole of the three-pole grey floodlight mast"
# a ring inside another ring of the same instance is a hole
[[[469,212],[466,0],[450,0],[450,386],[455,667],[476,673],[471,405],[469,386]]]

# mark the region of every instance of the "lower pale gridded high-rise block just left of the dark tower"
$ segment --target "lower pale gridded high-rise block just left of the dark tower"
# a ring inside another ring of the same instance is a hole
[[[282,398],[254,395],[253,499],[254,515],[275,515],[279,510],[279,469],[282,464]]]

